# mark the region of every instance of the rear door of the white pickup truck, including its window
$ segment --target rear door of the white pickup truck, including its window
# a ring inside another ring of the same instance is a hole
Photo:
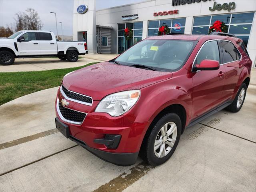
[[[56,55],[57,43],[55,38],[52,38],[52,34],[48,32],[38,32],[37,34],[40,41],[41,54]]]

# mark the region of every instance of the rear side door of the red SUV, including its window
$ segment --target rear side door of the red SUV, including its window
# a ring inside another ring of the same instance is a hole
[[[223,65],[226,70],[225,86],[223,96],[226,100],[234,95],[238,79],[244,68],[242,56],[236,46],[230,41],[219,41],[221,53],[223,55]]]

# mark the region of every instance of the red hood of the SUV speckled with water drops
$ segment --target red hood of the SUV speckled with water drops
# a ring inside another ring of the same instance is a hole
[[[63,85],[68,90],[91,96],[93,100],[101,100],[115,92],[141,89],[171,77],[171,72],[102,62],[72,72],[63,79]]]

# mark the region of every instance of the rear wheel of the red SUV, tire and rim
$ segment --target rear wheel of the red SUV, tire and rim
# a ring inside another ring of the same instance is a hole
[[[226,110],[233,112],[233,113],[240,111],[240,109],[242,108],[242,106],[244,104],[246,90],[247,90],[246,84],[242,83],[242,85],[240,86],[240,89],[238,90],[238,92],[236,94],[235,99],[229,106],[226,107]],[[238,102],[239,102],[239,104],[238,104]]]

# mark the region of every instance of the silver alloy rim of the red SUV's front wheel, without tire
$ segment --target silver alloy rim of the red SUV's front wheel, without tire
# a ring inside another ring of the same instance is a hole
[[[174,146],[177,138],[177,126],[174,122],[168,122],[158,132],[154,143],[156,157],[165,157]]]

